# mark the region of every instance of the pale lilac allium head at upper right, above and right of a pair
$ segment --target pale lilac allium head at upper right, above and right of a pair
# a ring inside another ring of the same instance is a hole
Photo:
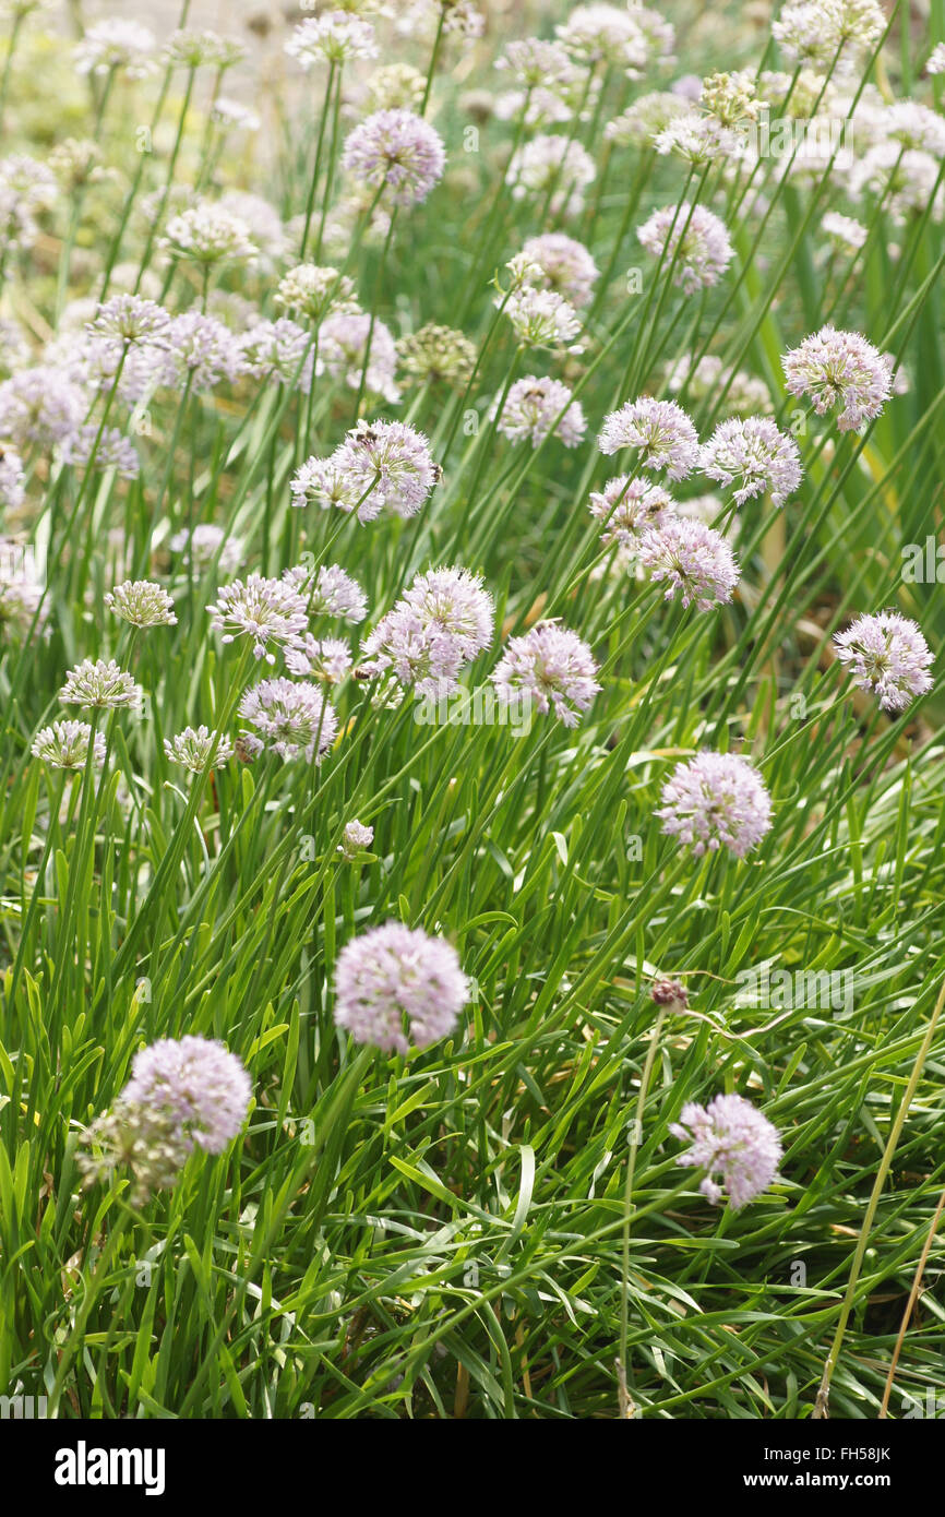
[[[892,394],[892,360],[859,332],[830,323],[781,360],[790,394],[808,394],[818,416],[842,405],[840,432],[872,422]]]

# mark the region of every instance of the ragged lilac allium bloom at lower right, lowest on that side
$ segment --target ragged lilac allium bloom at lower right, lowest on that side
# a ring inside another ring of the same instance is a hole
[[[713,1203],[728,1194],[737,1211],[777,1179],[784,1154],[778,1129],[742,1095],[716,1095],[708,1106],[687,1101],[669,1130],[673,1138],[692,1141],[677,1164],[708,1171],[699,1189]],[[716,1173],[722,1185],[711,1179]]]

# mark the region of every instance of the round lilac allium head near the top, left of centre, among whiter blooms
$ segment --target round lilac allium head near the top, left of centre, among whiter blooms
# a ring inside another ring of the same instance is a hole
[[[413,111],[375,111],[344,143],[343,168],[393,205],[417,205],[443,177],[440,133]]]

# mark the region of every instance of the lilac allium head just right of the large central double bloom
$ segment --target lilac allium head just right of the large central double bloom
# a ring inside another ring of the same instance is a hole
[[[576,633],[540,622],[508,640],[491,681],[502,702],[525,695],[543,715],[554,710],[564,727],[576,727],[601,689],[596,677],[593,654]]]

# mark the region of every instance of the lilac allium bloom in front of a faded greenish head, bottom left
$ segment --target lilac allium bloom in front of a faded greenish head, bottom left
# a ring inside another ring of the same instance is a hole
[[[120,1100],[168,1113],[188,1148],[223,1153],[237,1136],[252,1097],[235,1054],[208,1038],[162,1038],[141,1048]]]

